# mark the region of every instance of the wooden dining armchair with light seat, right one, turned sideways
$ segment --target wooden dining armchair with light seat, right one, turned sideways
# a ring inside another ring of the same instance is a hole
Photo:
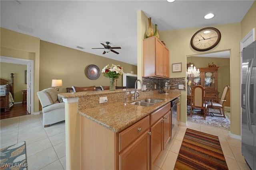
[[[208,105],[208,115],[209,115],[209,108],[213,108],[213,109],[218,109],[220,113],[211,112],[212,116],[226,118],[224,107],[226,104],[226,99],[228,97],[229,91],[230,91],[230,86],[225,86],[220,99],[214,99],[214,100],[211,100],[211,102],[206,102],[206,104]]]

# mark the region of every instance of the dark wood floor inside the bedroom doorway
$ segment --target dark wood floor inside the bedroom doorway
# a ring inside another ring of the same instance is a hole
[[[10,108],[10,111],[3,111],[1,109],[0,119],[7,119],[10,117],[17,117],[17,116],[23,116],[23,115],[28,115],[27,105],[26,104],[14,104]]]

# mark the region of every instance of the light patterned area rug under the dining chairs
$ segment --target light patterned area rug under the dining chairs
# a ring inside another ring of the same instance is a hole
[[[211,116],[211,113],[219,113],[218,109],[209,109],[209,116],[206,116],[206,120],[204,120],[203,116],[200,116],[201,109],[193,109],[193,115],[190,115],[190,106],[187,106],[187,121],[200,123],[204,125],[214,126],[222,129],[230,130],[230,112],[225,111],[226,118],[224,117],[216,117]],[[194,115],[198,114],[198,115]]]

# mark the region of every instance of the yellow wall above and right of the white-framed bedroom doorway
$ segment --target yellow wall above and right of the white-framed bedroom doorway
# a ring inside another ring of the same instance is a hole
[[[40,39],[2,27],[0,34],[1,56],[34,60],[34,112],[38,112]]]

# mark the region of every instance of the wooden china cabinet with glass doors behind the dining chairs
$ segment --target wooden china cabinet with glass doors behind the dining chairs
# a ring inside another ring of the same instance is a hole
[[[188,76],[188,81],[191,81],[190,87],[201,85],[206,88],[206,98],[214,99],[218,98],[218,68],[219,67],[205,67],[199,68],[200,75]]]

